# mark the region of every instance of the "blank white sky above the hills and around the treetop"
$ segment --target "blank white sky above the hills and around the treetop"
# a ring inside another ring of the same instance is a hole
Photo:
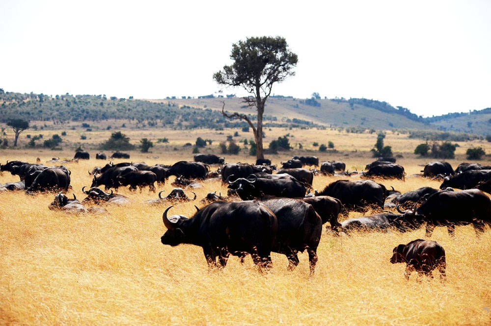
[[[0,88],[207,95],[232,44],[263,35],[299,56],[276,95],[364,97],[423,116],[491,107],[491,0],[0,0]]]

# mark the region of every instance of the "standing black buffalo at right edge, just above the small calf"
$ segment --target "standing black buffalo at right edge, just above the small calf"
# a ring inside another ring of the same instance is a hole
[[[406,213],[417,223],[426,222],[426,236],[431,237],[435,226],[447,226],[448,233],[454,234],[456,225],[472,224],[476,234],[491,226],[491,200],[478,189],[462,191],[439,191],[430,195],[423,204]]]

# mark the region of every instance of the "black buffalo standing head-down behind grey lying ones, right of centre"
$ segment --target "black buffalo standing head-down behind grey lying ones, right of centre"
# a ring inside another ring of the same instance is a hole
[[[368,205],[383,207],[387,190],[383,184],[372,180],[337,180],[329,183],[316,196],[331,196],[339,199],[345,209],[365,212]]]

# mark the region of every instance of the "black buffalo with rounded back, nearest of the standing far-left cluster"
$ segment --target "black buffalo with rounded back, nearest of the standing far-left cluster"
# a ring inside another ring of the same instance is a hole
[[[34,179],[27,194],[43,191],[67,191],[70,185],[70,171],[63,165],[60,167],[47,168]]]

